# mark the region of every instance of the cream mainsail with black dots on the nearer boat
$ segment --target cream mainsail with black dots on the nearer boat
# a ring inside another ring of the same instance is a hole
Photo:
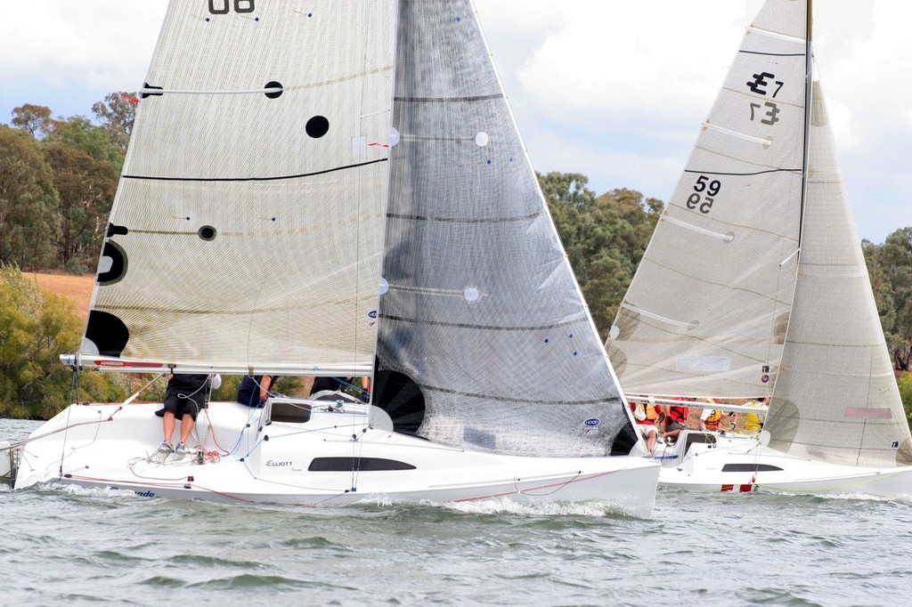
[[[169,7],[86,359],[229,373],[373,364],[395,4],[255,8]]]

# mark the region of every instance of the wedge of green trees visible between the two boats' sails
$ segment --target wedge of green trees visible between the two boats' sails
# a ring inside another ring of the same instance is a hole
[[[538,179],[604,339],[664,205],[635,190],[596,196],[586,188],[586,176],[576,173],[548,173]]]

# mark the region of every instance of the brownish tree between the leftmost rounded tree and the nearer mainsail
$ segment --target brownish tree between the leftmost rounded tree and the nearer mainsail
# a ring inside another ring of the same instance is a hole
[[[117,191],[117,169],[107,160],[58,144],[45,146],[44,155],[60,197],[60,261],[67,272],[87,273],[98,260]]]

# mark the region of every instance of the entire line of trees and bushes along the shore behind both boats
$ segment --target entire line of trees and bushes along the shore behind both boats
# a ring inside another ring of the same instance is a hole
[[[26,271],[93,273],[133,127],[134,94],[92,106],[96,122],[51,118],[26,104],[0,125],[0,417],[47,418],[73,399],[107,401],[148,377],[88,374],[79,392],[57,355],[78,349],[81,323],[67,303],[23,279]],[[577,173],[539,182],[596,326],[606,334],[664,209],[636,190],[603,194]],[[912,406],[912,228],[863,242],[887,345]],[[226,381],[218,398],[233,399]],[[154,398],[162,386],[144,397]]]

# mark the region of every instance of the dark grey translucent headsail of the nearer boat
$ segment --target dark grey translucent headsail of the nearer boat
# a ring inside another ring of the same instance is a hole
[[[447,445],[628,451],[615,442],[629,415],[468,0],[400,2],[395,98],[375,403]]]

